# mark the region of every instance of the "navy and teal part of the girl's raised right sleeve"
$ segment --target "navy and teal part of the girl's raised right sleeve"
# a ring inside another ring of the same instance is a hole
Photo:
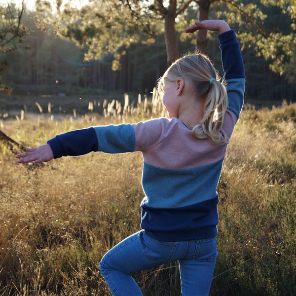
[[[243,58],[234,30],[218,35],[220,42],[223,79],[226,81],[228,109],[239,117],[244,103],[245,69]]]

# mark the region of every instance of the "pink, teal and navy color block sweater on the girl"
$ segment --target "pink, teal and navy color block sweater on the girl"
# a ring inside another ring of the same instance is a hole
[[[245,73],[233,30],[218,35],[228,109],[221,132],[230,138],[243,106]],[[217,235],[217,185],[227,145],[197,139],[177,118],[137,124],[94,126],[58,135],[47,142],[54,158],[91,151],[141,151],[141,228],[161,241],[204,239]]]

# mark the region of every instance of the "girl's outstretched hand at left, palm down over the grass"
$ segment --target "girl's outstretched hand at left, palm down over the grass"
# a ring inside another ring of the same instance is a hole
[[[53,152],[48,144],[37,148],[26,148],[27,152],[15,155],[19,158],[18,163],[22,162],[41,162],[53,159]]]

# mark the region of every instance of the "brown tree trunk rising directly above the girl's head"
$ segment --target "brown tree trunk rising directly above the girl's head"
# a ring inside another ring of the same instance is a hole
[[[165,46],[167,51],[167,64],[170,66],[173,61],[179,58],[179,50],[177,45],[175,19],[176,19],[177,0],[170,0],[170,6],[167,10],[165,24]]]

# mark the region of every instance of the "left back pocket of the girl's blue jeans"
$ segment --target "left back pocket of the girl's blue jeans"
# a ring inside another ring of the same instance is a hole
[[[178,242],[163,242],[148,236],[144,254],[155,262],[170,262],[176,253],[177,245]]]

